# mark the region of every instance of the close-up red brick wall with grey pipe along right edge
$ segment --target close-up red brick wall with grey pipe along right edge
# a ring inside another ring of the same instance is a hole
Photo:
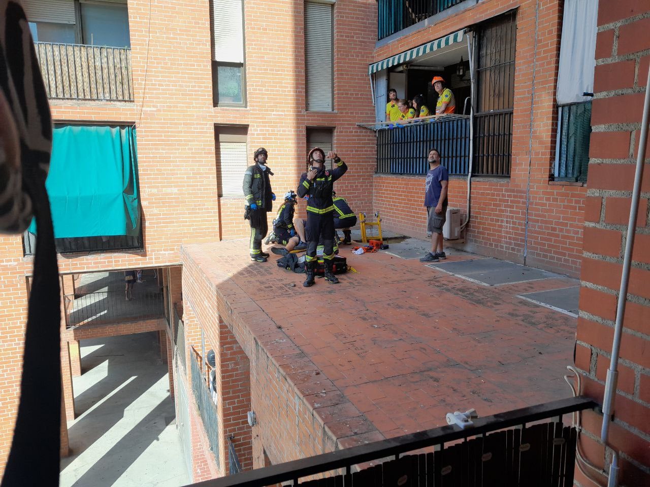
[[[589,190],[585,201],[584,257],[575,364],[583,392],[603,401],[636,155],[643,93],[650,60],[650,5],[601,0],[591,123]],[[650,484],[650,150],[646,149],[628,302],[623,319],[614,421],[609,447],[620,452],[619,484]],[[608,469],[609,448],[600,442],[603,417],[584,414],[581,445],[588,459]],[[578,474],[580,485],[590,481]],[[602,480],[602,479],[601,479]]]

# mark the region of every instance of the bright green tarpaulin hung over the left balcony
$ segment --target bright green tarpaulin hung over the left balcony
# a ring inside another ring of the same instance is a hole
[[[133,127],[55,127],[45,182],[55,238],[140,234],[136,154]]]

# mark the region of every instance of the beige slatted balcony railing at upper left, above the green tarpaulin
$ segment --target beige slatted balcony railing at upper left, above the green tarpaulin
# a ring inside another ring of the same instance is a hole
[[[133,101],[131,49],[34,42],[47,97]]]

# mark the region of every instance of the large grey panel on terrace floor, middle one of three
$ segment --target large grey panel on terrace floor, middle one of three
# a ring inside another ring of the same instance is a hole
[[[460,262],[439,262],[428,264],[429,267],[457,275],[468,281],[486,286],[514,284],[515,282],[537,281],[551,277],[563,277],[552,272],[540,271],[513,262],[496,258],[478,258]]]

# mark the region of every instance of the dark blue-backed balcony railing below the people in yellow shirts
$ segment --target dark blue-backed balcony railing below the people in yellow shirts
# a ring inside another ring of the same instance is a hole
[[[378,129],[377,172],[426,174],[431,149],[440,152],[450,174],[467,174],[469,116],[448,115]]]

